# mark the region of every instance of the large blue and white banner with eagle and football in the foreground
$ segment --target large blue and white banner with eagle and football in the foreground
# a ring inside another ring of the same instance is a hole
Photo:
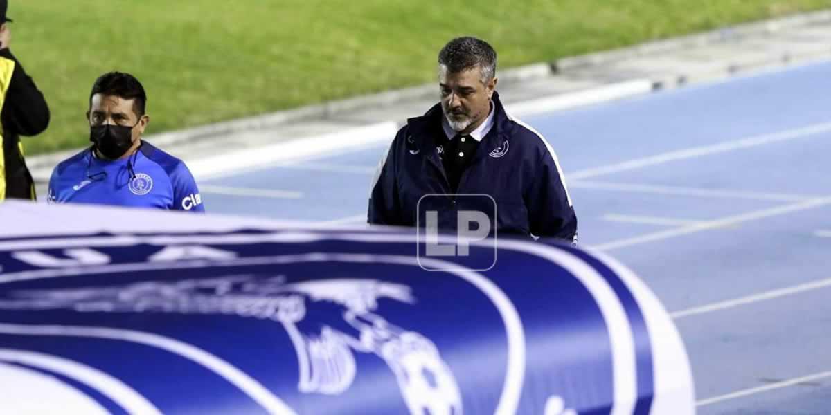
[[[0,232],[2,413],[695,413],[666,311],[578,248],[473,271],[491,241],[32,203]]]

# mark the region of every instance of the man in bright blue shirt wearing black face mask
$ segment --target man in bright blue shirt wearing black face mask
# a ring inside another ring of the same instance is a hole
[[[110,72],[92,85],[92,145],[58,164],[49,180],[50,203],[96,203],[204,212],[184,163],[141,139],[150,117],[147,96],[130,74]]]

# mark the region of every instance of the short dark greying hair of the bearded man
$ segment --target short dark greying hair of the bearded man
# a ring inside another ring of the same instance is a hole
[[[456,37],[441,48],[439,65],[446,66],[450,72],[466,71],[479,66],[482,81],[487,82],[496,75],[496,51],[487,41],[475,37]]]

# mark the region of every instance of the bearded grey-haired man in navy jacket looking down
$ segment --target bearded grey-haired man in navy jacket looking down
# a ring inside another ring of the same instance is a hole
[[[457,212],[479,211],[498,235],[576,242],[577,217],[557,156],[542,135],[505,112],[494,90],[493,48],[460,37],[442,49],[439,64],[441,102],[408,120],[381,159],[368,222],[423,227],[432,210],[440,229],[453,230]],[[442,196],[425,197],[435,193]],[[463,195],[474,193],[493,202]]]

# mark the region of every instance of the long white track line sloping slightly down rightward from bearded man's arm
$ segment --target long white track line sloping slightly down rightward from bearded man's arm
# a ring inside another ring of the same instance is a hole
[[[575,181],[568,183],[571,188],[587,188],[597,190],[611,190],[615,192],[671,194],[678,196],[698,196],[702,198],[736,198],[750,200],[771,200],[777,202],[797,202],[816,196],[787,194],[787,193],[759,193],[743,190],[723,190],[711,188],[686,188],[680,186],[661,186],[641,183],[614,183],[597,181]]]

